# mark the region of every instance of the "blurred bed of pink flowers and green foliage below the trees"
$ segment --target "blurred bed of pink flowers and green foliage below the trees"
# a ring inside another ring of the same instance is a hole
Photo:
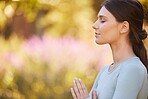
[[[109,59],[108,47],[96,49],[71,37],[1,38],[0,45],[0,99],[72,98],[73,79],[82,78],[90,90],[96,67]]]

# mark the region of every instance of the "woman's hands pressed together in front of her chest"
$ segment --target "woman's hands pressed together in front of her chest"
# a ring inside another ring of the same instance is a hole
[[[89,93],[84,83],[82,82],[81,79],[78,79],[78,78],[74,79],[74,85],[73,85],[73,88],[71,88],[71,94],[74,99],[86,99],[89,97]],[[95,90],[92,92],[91,99],[98,99]]]

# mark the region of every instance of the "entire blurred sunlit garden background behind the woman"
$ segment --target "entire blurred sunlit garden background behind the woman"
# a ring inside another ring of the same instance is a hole
[[[0,0],[0,99],[72,99],[75,77],[89,91],[112,62],[92,29],[102,1]]]

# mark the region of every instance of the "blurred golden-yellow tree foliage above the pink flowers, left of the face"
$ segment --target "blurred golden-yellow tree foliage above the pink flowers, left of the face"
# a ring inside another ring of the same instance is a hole
[[[92,0],[1,1],[0,29],[6,39],[14,33],[25,38],[44,33],[86,38],[94,15],[92,3]]]

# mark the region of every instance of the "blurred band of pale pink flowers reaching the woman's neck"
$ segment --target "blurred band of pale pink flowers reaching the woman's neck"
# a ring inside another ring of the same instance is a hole
[[[52,38],[33,37],[24,42],[22,49],[35,61],[46,62],[60,69],[63,66],[75,66],[84,70],[91,64],[103,65],[108,58],[109,47],[93,48],[86,42],[72,37]]]

